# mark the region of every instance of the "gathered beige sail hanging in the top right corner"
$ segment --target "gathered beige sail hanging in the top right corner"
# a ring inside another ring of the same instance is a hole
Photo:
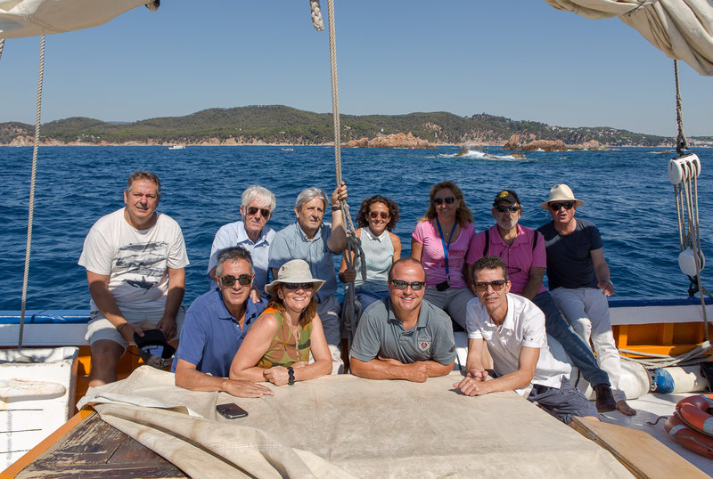
[[[619,17],[669,58],[713,76],[713,0],[545,0],[589,19]]]

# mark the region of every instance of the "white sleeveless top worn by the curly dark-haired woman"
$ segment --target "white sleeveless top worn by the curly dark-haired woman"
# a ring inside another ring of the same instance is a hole
[[[366,263],[366,281],[362,280],[361,261],[356,258],[356,290],[386,291],[389,288],[389,268],[394,260],[394,245],[389,231],[374,236],[369,228],[362,228],[361,241]]]

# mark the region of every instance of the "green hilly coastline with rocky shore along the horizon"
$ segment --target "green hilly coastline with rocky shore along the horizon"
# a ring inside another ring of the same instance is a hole
[[[441,145],[504,145],[517,135],[522,144],[561,142],[596,149],[620,146],[670,148],[675,138],[637,134],[610,127],[550,126],[545,123],[479,113],[459,117],[436,111],[407,115],[341,115],[345,146],[429,148]],[[0,145],[30,146],[35,127],[0,123]],[[401,136],[398,136],[401,135]],[[391,144],[384,138],[405,139]],[[296,110],[283,105],[201,110],[184,117],[150,118],[133,123],[108,123],[93,118],[66,118],[45,123],[43,145],[315,145],[332,143],[331,113]],[[381,140],[380,140],[381,139]],[[713,137],[690,139],[713,146]]]

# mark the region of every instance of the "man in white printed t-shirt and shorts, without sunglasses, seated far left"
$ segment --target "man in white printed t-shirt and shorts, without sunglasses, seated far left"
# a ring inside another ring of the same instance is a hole
[[[178,223],[156,212],[159,199],[159,178],[136,171],[127,180],[126,207],[102,216],[86,235],[78,263],[92,296],[89,386],[117,380],[134,333],[160,329],[170,341],[181,329],[188,256]]]

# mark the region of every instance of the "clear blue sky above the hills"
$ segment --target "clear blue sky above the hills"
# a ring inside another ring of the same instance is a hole
[[[620,20],[542,0],[337,0],[335,11],[342,113],[485,112],[676,135],[673,61]],[[34,123],[38,45],[5,42],[0,122]],[[680,70],[685,133],[713,135],[713,78]],[[256,104],[332,110],[328,36],[307,0],[163,0],[46,38],[43,122]]]

